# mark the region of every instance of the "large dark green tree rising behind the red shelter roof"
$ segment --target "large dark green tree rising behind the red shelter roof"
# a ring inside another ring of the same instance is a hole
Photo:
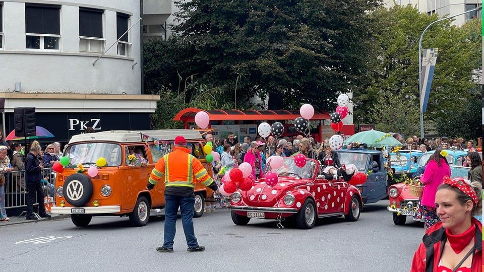
[[[173,29],[186,75],[240,99],[269,96],[269,108],[311,103],[334,109],[337,93],[359,86],[371,48],[366,12],[378,0],[195,0],[175,2]],[[191,94],[187,94],[190,96]],[[297,99],[295,99],[297,98]]]

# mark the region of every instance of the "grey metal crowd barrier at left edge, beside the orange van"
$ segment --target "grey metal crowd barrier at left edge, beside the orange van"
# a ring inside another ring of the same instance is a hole
[[[49,177],[50,185],[43,185],[44,206],[47,212],[50,212],[50,207],[55,205],[55,172],[52,168],[44,168],[42,177]],[[52,189],[50,189],[52,187]],[[27,207],[27,186],[25,185],[25,170],[12,171],[6,175],[5,179],[5,210],[8,216],[19,216]],[[38,201],[34,203],[34,207],[38,206]],[[35,210],[35,208],[34,208]]]

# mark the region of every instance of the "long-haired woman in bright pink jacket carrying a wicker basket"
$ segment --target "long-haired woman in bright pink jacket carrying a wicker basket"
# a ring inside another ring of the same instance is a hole
[[[437,222],[440,222],[435,208],[435,194],[437,188],[445,176],[450,176],[450,167],[447,162],[447,152],[437,149],[429,158],[425,172],[423,172],[420,182],[425,185],[420,204],[422,206],[422,216],[425,220],[425,230]]]

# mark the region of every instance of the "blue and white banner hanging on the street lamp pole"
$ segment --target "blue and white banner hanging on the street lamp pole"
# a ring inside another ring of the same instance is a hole
[[[434,78],[435,62],[437,61],[438,48],[423,49],[422,57],[422,82],[420,85],[420,111],[427,111],[430,87]]]

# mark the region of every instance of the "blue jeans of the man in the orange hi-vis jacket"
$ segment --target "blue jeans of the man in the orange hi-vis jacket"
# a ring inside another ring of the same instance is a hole
[[[172,248],[173,239],[176,232],[176,216],[178,207],[181,211],[181,224],[185,232],[187,245],[197,247],[198,242],[193,229],[193,206],[195,198],[193,196],[178,196],[165,194],[165,230],[164,230],[164,247]]]

